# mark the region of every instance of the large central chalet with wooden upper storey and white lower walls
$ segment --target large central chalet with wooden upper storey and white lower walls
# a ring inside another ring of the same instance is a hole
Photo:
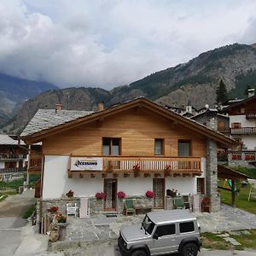
[[[120,212],[119,191],[131,198],[152,191],[153,207],[164,209],[172,189],[206,194],[218,211],[217,148],[234,144],[145,98],[96,112],[40,109],[20,138],[42,143],[42,154],[31,155],[29,164],[42,174],[42,212],[70,189],[90,198],[95,211],[96,193],[105,193],[102,211]]]

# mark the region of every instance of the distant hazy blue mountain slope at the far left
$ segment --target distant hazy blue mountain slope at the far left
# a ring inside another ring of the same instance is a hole
[[[13,118],[27,99],[53,89],[57,89],[53,84],[18,79],[0,73],[0,126]]]

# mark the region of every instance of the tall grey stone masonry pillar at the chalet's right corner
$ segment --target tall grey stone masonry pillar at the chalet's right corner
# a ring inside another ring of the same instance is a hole
[[[211,198],[211,210],[218,212],[220,198],[218,195],[217,144],[212,139],[207,139],[206,187],[207,196]]]

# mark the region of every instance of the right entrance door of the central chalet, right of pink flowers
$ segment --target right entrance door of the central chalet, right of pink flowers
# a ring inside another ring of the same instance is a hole
[[[154,208],[164,209],[165,207],[165,179],[153,179]]]

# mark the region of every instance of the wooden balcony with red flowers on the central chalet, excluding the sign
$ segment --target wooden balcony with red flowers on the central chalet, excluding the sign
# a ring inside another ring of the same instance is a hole
[[[124,177],[133,174],[135,177],[144,175],[148,177],[154,174],[155,177],[164,175],[171,177],[183,176],[201,176],[201,158],[200,157],[123,157],[108,156],[102,158],[102,171],[68,171],[68,177],[72,177],[73,173],[79,173],[83,177],[84,173],[90,173],[92,177],[96,173],[102,173],[102,177],[106,177],[108,172],[112,172],[113,176],[123,173]]]

